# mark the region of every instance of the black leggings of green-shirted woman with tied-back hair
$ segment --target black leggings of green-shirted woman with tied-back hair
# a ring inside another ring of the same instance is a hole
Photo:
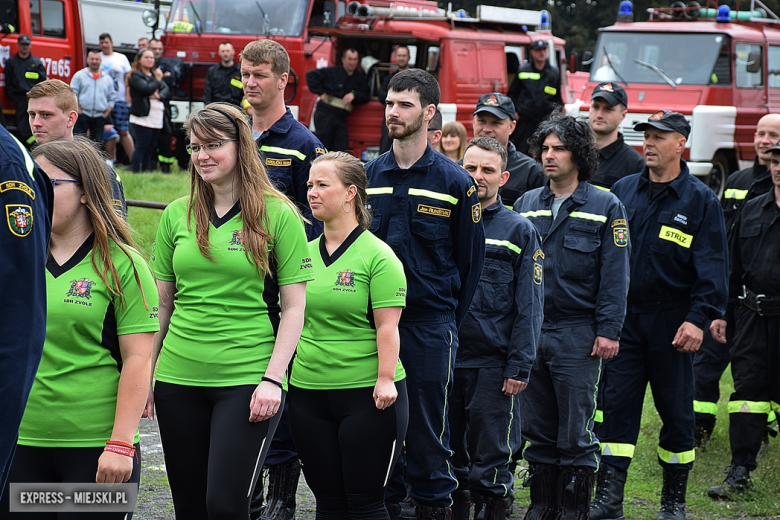
[[[305,390],[290,386],[290,424],[317,520],[387,520],[385,485],[409,422],[406,381],[385,410],[373,387]]]

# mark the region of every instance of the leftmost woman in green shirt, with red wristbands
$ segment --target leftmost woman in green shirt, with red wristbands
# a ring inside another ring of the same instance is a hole
[[[113,210],[92,142],[43,143],[33,158],[54,185],[46,341],[9,481],[138,484],[137,428],[159,328],[154,279]],[[7,490],[3,496],[0,518],[62,518],[9,513]],[[125,513],[83,516],[119,520]]]

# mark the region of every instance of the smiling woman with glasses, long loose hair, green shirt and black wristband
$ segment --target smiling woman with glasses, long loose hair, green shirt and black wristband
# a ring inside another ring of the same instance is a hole
[[[163,212],[154,392],[177,518],[246,520],[313,278],[303,220],[237,107],[187,123],[190,195]],[[281,311],[281,318],[280,318]]]

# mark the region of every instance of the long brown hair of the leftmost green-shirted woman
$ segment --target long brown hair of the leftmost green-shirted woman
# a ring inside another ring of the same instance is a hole
[[[95,148],[95,144],[83,136],[74,136],[73,141],[52,141],[41,143],[32,151],[33,158],[45,157],[54,166],[67,173],[84,190],[89,221],[95,236],[90,261],[108,290],[122,303],[124,296],[122,282],[111,258],[109,239],[130,259],[135,274],[135,282],[141,290],[144,306],[148,309],[141,278],[138,276],[130,249],[135,248],[130,228],[117,216],[111,195],[111,180],[106,171],[106,163]],[[111,274],[113,287],[108,277]]]

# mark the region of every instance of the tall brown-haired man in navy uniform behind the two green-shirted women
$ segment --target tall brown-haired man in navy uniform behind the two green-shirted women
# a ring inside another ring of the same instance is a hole
[[[246,101],[252,107],[249,125],[263,164],[276,187],[287,195],[308,221],[306,237],[322,234],[322,222],[311,214],[306,198],[311,162],[325,154],[322,143],[295,120],[284,104],[290,57],[274,40],[255,40],[241,51],[241,81]],[[291,362],[292,363],[292,362]],[[268,455],[268,493],[263,497],[263,478],[252,494],[253,519],[295,518],[296,491],[301,474],[298,452],[290,431],[289,406],[284,404]]]

